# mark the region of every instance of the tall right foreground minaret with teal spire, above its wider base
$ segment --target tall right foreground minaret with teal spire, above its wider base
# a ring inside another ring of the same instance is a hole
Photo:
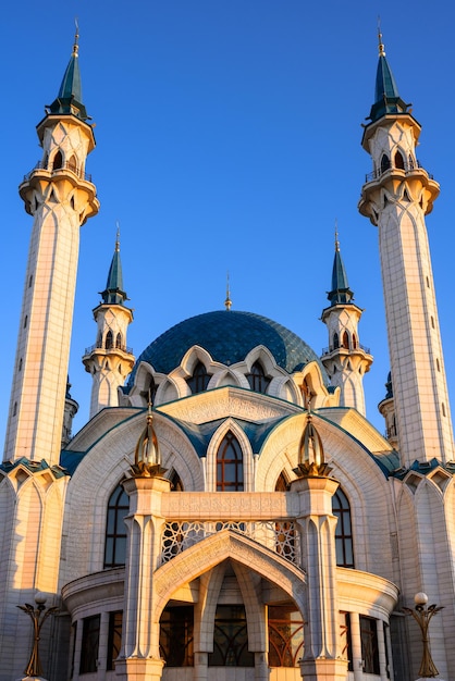
[[[453,459],[451,408],[425,215],[439,195],[420,166],[420,125],[398,95],[379,35],[379,65],[362,146],[373,172],[359,211],[379,228],[398,448],[403,466]]]

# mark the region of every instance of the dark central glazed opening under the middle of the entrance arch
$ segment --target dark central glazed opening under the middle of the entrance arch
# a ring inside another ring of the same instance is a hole
[[[254,667],[243,605],[219,605],[214,617],[213,653],[209,667]]]

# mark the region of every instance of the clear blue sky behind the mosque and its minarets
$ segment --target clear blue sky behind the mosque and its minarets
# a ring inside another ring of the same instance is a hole
[[[88,418],[91,309],[121,225],[135,355],[179,321],[221,309],[270,317],[318,354],[335,219],[360,342],[374,363],[367,416],[389,371],[378,234],[357,212],[371,162],[360,124],[373,99],[377,17],[399,94],[423,129],[418,157],[441,183],[427,225],[452,403],[455,7],[395,0],[9,2],[0,26],[3,439],[32,219],[17,185],[40,158],[35,132],[57,96],[79,23],[84,103],[97,124],[87,170],[101,210],[81,231],[70,363]]]

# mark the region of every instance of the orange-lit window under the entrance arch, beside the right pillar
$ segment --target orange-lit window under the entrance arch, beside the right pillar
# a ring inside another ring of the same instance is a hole
[[[304,620],[295,605],[269,606],[269,666],[298,667],[304,652]]]

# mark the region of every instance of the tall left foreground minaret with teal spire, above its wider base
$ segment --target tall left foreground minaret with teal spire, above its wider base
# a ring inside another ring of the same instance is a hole
[[[3,460],[59,462],[79,227],[99,209],[85,173],[95,147],[82,99],[78,35],[57,96],[37,126],[42,158],[20,186],[34,223]]]

